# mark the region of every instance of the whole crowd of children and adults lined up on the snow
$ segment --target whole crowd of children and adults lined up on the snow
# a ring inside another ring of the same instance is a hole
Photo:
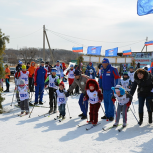
[[[67,90],[64,85],[64,74],[68,76],[69,88]],[[9,92],[9,76],[10,70],[8,65],[5,65],[6,90],[4,92]],[[96,81],[96,77],[98,77],[98,81]],[[122,112],[123,126],[125,127],[127,112],[137,87],[138,124],[143,123],[145,101],[148,122],[152,123],[153,76],[143,68],[134,70],[131,66],[128,72],[124,69],[123,75],[120,76],[117,68],[113,67],[107,58],[104,58],[97,72],[93,63],[90,62],[83,74],[80,68],[74,67],[74,65],[70,65],[70,68],[66,69],[65,64],[60,61],[57,61],[54,66],[49,65],[49,62],[41,61],[40,66],[37,67],[35,62],[24,65],[22,61],[19,61],[15,73],[15,92],[18,105],[21,108],[21,115],[29,114],[29,105],[43,105],[44,89],[49,89],[50,109],[48,113],[56,113],[58,108],[59,118],[64,119],[68,97],[81,92],[78,103],[82,113],[79,114],[79,117],[87,119],[88,104],[90,104],[88,123],[93,125],[98,123],[98,111],[101,102],[104,101],[105,115],[101,119],[114,121],[115,118],[113,126],[118,126]],[[30,103],[30,93],[33,95],[34,92],[35,101]],[[117,109],[115,102],[118,102]]]

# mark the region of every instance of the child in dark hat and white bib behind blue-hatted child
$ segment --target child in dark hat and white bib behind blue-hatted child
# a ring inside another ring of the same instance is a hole
[[[126,90],[126,91],[130,91],[130,86],[131,86],[131,80],[128,76],[127,72],[123,72],[123,80],[121,80],[121,86]]]

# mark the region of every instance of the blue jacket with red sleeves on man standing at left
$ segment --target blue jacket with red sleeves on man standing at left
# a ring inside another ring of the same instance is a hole
[[[37,68],[35,71],[34,83],[39,84],[39,85],[43,85],[43,84],[45,84],[46,78],[47,78],[47,70],[42,66]]]

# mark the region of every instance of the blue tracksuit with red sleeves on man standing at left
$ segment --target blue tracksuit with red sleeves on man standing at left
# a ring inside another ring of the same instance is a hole
[[[35,102],[38,102],[38,96],[39,101],[42,102],[43,98],[43,92],[44,92],[44,86],[45,86],[45,80],[47,78],[47,70],[40,66],[35,71],[35,77],[34,77],[34,83],[35,83]]]

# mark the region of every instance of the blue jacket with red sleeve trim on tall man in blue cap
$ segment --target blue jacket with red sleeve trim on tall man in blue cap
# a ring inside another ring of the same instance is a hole
[[[118,70],[110,64],[106,69],[101,70],[102,74],[102,88],[103,90],[111,90],[119,83],[120,76]]]

